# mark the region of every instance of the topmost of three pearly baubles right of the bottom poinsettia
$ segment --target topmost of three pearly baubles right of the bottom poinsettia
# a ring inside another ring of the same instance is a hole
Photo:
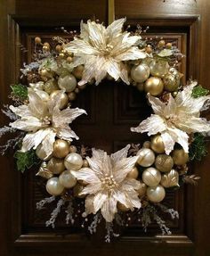
[[[139,156],[137,163],[143,167],[151,166],[155,161],[155,153],[149,148],[142,148],[137,152]]]

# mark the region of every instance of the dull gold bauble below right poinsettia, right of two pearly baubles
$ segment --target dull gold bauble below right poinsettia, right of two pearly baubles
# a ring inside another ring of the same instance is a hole
[[[155,166],[160,171],[170,171],[174,166],[174,160],[170,155],[166,155],[165,153],[158,154],[155,161]]]

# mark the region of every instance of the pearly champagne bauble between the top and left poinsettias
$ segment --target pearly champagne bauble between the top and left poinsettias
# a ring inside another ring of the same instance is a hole
[[[71,74],[64,74],[59,77],[58,85],[67,93],[73,92],[74,89],[77,87],[77,79]]]

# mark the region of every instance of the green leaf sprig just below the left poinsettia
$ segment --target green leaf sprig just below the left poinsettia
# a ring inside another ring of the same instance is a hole
[[[16,153],[14,153],[14,158],[17,159],[17,168],[22,173],[25,169],[30,169],[33,165],[39,162],[34,150],[30,150],[26,153],[16,151]]]

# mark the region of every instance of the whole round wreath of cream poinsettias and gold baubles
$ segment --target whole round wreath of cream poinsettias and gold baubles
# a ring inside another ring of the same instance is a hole
[[[210,95],[196,81],[182,85],[176,67],[183,55],[163,39],[142,39],[140,27],[135,32],[123,30],[124,23],[119,19],[105,28],[95,21],[82,21],[80,35],[71,33],[73,40],[54,37],[58,42],[54,49],[36,37],[35,61],[21,69],[28,86],[12,86],[13,104],[4,109],[12,122],[0,130],[1,136],[20,131],[2,146],[2,153],[9,146],[20,146],[14,154],[18,169],[24,171],[42,161],[36,175],[46,180],[46,191],[52,196],[36,207],[40,210],[58,201],[46,226],[54,227],[64,208],[67,224],[73,225],[81,215],[85,219],[81,226],[91,233],[105,219],[107,242],[110,235],[117,235],[113,223],[127,226],[132,218],[145,229],[155,220],[163,234],[170,234],[158,211],[173,219],[178,212],[160,202],[167,189],[197,182],[199,177],[188,173],[187,163],[206,155],[205,136],[210,131],[209,122],[200,117]],[[88,84],[100,87],[108,77],[145,92],[153,110],[131,128],[147,133],[149,141],[126,145],[111,155],[75,145],[78,136],[69,127],[87,114],[71,108],[77,93]],[[79,209],[74,211],[76,203]],[[131,211],[135,214],[130,215]]]

